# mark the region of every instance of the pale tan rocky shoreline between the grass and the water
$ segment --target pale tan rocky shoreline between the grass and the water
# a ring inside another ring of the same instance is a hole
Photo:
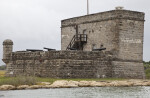
[[[37,85],[1,85],[0,91],[5,90],[26,90],[26,89],[50,89],[50,88],[79,88],[79,87],[134,87],[150,86],[150,80],[114,80],[114,81],[72,81],[57,80],[50,82],[38,82]]]

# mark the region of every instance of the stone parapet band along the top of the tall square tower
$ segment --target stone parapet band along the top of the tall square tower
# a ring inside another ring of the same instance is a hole
[[[127,19],[144,21],[145,14],[138,11],[125,10],[123,7],[116,7],[115,10],[74,17],[61,21],[61,27],[75,26],[77,24],[95,23],[101,21]]]

